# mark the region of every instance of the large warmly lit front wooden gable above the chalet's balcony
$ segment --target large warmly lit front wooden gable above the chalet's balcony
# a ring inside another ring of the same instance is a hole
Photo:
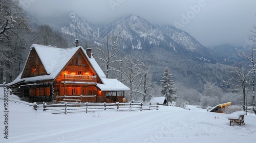
[[[86,55],[84,55],[81,48],[77,50],[74,56],[60,71],[59,76],[63,75],[96,76],[97,83],[102,83],[92,64]],[[60,79],[60,77],[57,79]]]

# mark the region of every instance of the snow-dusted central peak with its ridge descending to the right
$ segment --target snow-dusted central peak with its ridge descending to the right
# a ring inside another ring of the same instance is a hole
[[[100,30],[101,38],[110,33],[120,35],[122,47],[127,51],[162,47],[196,61],[224,62],[224,57],[207,49],[188,33],[170,25],[152,25],[136,15],[121,17]]]

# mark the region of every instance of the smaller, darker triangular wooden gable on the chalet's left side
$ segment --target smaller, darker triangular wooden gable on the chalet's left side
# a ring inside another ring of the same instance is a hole
[[[34,49],[32,49],[27,59],[27,62],[25,64],[22,78],[42,76],[42,75],[48,75],[48,74],[38,54]]]

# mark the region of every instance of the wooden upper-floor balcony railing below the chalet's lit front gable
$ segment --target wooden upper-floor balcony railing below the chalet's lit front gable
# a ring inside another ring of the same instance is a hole
[[[79,76],[79,75],[64,75],[65,83],[88,83],[96,84],[97,76]]]

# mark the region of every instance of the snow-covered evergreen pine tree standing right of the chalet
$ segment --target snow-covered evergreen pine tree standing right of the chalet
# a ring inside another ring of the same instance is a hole
[[[160,80],[160,86],[162,87],[161,94],[168,102],[173,102],[175,101],[176,90],[174,88],[173,75],[169,73],[169,68],[165,66],[163,69],[163,77],[161,77],[162,80]]]

